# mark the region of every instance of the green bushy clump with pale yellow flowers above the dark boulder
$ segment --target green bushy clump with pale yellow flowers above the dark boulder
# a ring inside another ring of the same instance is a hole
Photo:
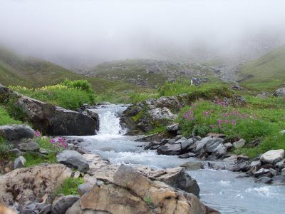
[[[86,80],[66,80],[54,86],[43,86],[41,88],[21,86],[10,86],[9,88],[31,98],[72,110],[76,110],[83,103],[95,103],[95,93]]]

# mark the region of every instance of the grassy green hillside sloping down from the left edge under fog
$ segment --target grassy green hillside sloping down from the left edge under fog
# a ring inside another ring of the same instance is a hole
[[[26,57],[12,51],[0,48],[0,83],[6,86],[39,87],[53,85],[69,79],[87,79],[96,93],[111,93],[112,91],[144,90],[125,81],[111,80],[104,76],[85,76],[48,61]]]

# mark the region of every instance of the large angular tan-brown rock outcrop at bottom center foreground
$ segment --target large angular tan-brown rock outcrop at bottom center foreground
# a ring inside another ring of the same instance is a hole
[[[134,168],[120,165],[113,183],[96,183],[66,214],[84,213],[219,213],[191,194],[152,181]]]

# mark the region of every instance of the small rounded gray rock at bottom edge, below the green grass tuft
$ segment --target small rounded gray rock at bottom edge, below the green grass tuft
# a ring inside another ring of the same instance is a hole
[[[64,214],[66,213],[66,210],[70,208],[73,203],[76,203],[77,200],[80,198],[76,195],[66,195],[61,198],[58,198],[53,203],[53,208],[51,210],[51,214]]]

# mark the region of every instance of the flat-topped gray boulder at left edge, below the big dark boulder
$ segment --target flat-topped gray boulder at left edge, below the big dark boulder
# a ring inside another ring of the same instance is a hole
[[[0,126],[0,136],[9,140],[21,140],[22,138],[33,138],[35,132],[27,125]]]

